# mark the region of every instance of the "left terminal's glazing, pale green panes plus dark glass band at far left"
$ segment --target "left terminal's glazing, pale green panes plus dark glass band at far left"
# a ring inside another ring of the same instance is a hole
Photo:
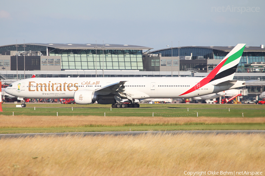
[[[2,51],[23,52],[24,45],[0,47]],[[47,47],[25,44],[25,51],[40,51],[47,55]],[[61,56],[62,70],[143,70],[142,50],[62,50],[48,47],[49,56]],[[0,63],[1,64],[1,63]],[[42,59],[41,65],[60,65],[60,60]]]

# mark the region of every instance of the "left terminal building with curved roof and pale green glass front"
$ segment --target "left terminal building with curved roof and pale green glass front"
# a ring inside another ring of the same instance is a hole
[[[47,70],[48,67],[52,70],[143,70],[142,51],[150,49],[153,48],[113,44],[27,43],[25,47],[24,44],[5,45],[0,46],[3,60],[0,65],[7,70],[10,65],[10,70],[16,70],[14,60],[17,55],[20,65],[18,70],[24,70],[24,56],[26,70]],[[6,55],[11,56],[10,64]]]

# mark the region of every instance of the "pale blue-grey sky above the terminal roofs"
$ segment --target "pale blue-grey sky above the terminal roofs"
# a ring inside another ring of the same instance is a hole
[[[262,0],[9,0],[0,3],[0,45],[260,46],[264,16]]]

